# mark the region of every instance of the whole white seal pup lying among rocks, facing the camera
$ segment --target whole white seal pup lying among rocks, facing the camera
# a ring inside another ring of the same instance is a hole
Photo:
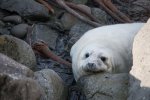
[[[70,52],[75,79],[102,71],[128,72],[132,66],[133,39],[143,25],[116,24],[86,32]]]

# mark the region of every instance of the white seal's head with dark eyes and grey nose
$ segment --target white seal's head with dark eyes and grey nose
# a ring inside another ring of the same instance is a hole
[[[111,72],[113,67],[111,50],[97,44],[88,44],[78,55],[77,66],[82,73]]]

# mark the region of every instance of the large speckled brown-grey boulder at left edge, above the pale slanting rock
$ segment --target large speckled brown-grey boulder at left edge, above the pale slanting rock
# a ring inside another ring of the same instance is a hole
[[[32,48],[18,38],[10,35],[0,36],[0,52],[33,70],[36,69],[36,58]]]

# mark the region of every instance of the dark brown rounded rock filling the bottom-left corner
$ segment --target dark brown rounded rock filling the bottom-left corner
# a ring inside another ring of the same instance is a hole
[[[46,100],[42,88],[31,78],[14,79],[0,73],[1,100]]]

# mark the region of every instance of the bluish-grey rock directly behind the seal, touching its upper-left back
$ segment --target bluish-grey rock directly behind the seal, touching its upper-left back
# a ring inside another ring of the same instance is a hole
[[[94,27],[78,21],[78,23],[76,23],[70,30],[69,32],[69,36],[70,36],[70,40],[69,40],[69,48],[71,48],[71,46],[88,30],[92,29]]]

